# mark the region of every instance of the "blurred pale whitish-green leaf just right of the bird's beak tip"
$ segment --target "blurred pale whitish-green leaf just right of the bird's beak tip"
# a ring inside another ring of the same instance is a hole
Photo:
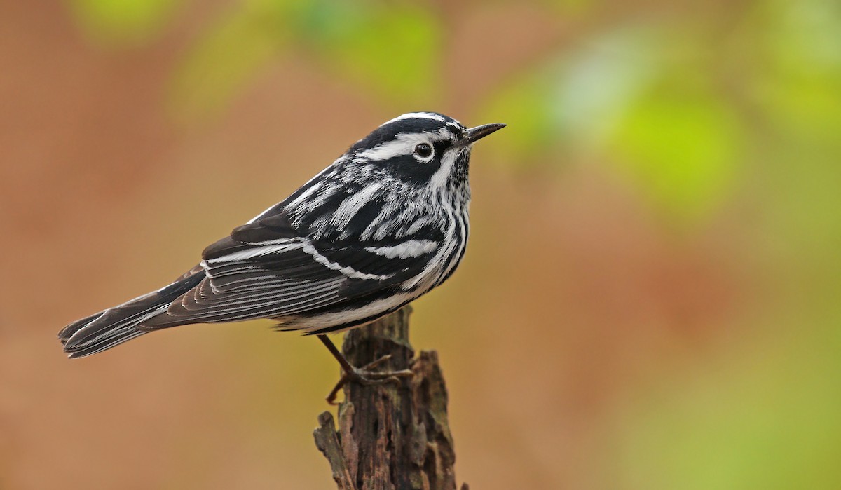
[[[479,111],[481,120],[515,128],[489,145],[521,163],[535,163],[547,150],[599,151],[651,77],[650,42],[640,29],[622,29],[521,74]]]

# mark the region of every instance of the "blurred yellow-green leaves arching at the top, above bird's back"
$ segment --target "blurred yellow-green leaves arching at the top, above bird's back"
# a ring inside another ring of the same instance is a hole
[[[187,56],[172,100],[189,112],[220,109],[291,48],[380,98],[415,104],[434,98],[441,64],[436,19],[412,3],[366,6],[261,0],[225,13]]]

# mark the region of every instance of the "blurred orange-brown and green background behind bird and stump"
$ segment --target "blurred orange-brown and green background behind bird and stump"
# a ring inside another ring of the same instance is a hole
[[[335,488],[269,322],[68,361],[404,112],[505,122],[415,302],[471,488],[841,487],[841,4],[0,3],[0,488]]]

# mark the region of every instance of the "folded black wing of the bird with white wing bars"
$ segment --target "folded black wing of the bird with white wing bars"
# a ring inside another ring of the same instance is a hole
[[[294,230],[278,210],[206,248],[204,280],[139,328],[264,317],[290,329],[350,327],[419,296],[404,286],[430,269],[440,245],[429,236],[316,239]]]

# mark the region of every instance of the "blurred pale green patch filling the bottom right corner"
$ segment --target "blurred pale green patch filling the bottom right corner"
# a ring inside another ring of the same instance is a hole
[[[841,486],[838,471],[825,471],[841,454],[838,349],[827,342],[831,328],[797,332],[734,345],[704,370],[676,367],[637,391],[627,433],[611,441],[619,482],[607,486]]]

